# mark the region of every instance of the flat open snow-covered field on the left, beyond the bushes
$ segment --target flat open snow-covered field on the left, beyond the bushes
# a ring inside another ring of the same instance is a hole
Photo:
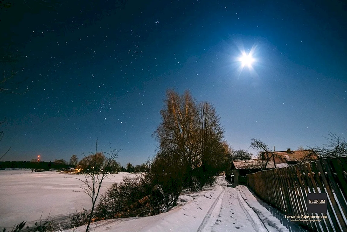
[[[114,182],[120,182],[123,176],[133,175],[119,173],[105,178],[101,193]],[[32,173],[31,170],[0,170],[0,225],[1,228],[12,228],[22,221],[36,222],[46,219],[66,218],[69,213],[91,208],[91,199],[80,192],[82,177],[56,171]],[[77,191],[77,192],[76,192]]]

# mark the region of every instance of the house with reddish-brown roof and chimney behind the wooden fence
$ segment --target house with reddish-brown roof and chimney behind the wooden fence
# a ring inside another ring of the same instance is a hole
[[[290,148],[287,151],[272,151],[270,152],[271,156],[274,155],[274,163],[276,164],[276,168],[287,167],[290,165],[295,165],[303,160],[316,160],[318,157],[310,150],[299,150],[299,151],[291,151]],[[262,153],[262,159],[265,159],[265,152]],[[273,161],[273,159],[271,159]]]

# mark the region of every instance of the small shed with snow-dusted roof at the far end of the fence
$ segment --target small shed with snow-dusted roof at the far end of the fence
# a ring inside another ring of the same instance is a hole
[[[269,160],[266,163],[266,160],[254,159],[254,160],[233,160],[231,165],[231,170],[234,175],[235,184],[245,184],[246,183],[246,174],[256,173],[257,171],[265,169],[275,168],[273,161]]]

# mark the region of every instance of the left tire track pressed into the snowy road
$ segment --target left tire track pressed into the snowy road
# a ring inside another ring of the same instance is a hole
[[[202,223],[200,224],[199,228],[197,229],[198,232],[202,231],[211,231],[214,224],[217,222],[218,215],[220,212],[220,209],[222,207],[222,200],[225,193],[224,187],[220,184],[220,178],[217,179],[218,185],[221,188],[222,192],[218,195],[216,200],[211,205],[209,211],[207,211],[207,214],[205,215],[204,219],[202,220]]]

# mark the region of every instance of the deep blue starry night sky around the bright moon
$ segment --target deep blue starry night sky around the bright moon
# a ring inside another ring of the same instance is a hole
[[[141,164],[168,88],[211,102],[234,149],[346,137],[342,1],[15,2],[0,9],[0,43],[18,50],[16,78],[31,89],[0,95],[2,160],[82,158],[98,138],[122,165]]]

